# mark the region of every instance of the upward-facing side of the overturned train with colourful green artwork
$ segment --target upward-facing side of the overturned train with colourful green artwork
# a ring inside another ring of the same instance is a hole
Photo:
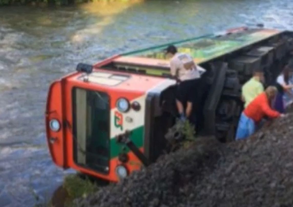
[[[95,67],[126,70],[149,75],[169,75],[169,60],[164,49],[175,45],[178,52],[190,54],[197,64],[203,64],[281,34],[282,30],[240,27],[224,32],[171,42],[150,48],[115,55]]]

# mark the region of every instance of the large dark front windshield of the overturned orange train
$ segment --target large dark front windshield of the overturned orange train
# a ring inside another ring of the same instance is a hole
[[[109,171],[110,98],[107,93],[74,88],[73,139],[77,165]]]

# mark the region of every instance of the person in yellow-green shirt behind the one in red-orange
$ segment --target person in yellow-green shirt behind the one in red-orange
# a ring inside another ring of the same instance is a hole
[[[242,100],[244,108],[253,101],[260,93],[264,91],[262,82],[264,81],[263,71],[255,69],[253,77],[242,86]]]

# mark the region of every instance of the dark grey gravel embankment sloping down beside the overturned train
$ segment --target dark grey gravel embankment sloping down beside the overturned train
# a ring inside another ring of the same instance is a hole
[[[292,207],[293,115],[243,141],[199,138],[77,206]]]

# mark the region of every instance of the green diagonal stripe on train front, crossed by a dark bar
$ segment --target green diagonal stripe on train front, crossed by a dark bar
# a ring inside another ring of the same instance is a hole
[[[144,126],[140,126],[131,131],[130,139],[138,148],[143,146],[143,135],[144,135]],[[125,146],[125,150],[123,151],[123,147]],[[124,144],[119,144],[116,142],[115,138],[110,140],[110,158],[117,157],[120,152],[129,152],[130,149]]]

